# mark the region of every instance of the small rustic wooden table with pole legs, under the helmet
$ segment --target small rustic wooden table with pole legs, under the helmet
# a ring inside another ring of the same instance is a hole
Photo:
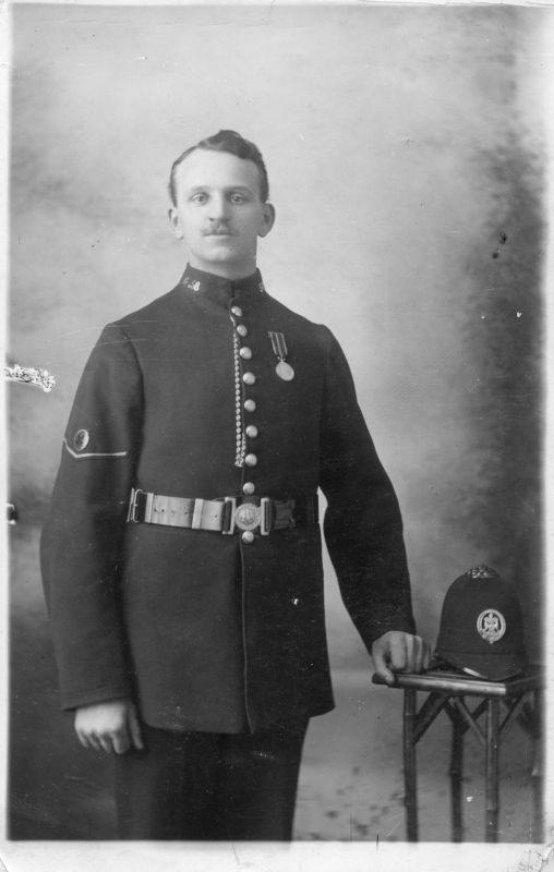
[[[377,685],[384,683],[377,676]],[[418,800],[416,746],[441,712],[446,712],[453,725],[450,756],[450,795],[453,841],[462,840],[461,778],[463,736],[471,729],[484,748],[485,777],[485,840],[498,836],[498,750],[502,734],[514,719],[532,739],[533,806],[535,821],[542,820],[542,778],[539,760],[542,726],[543,671],[531,666],[525,676],[505,681],[471,678],[462,673],[431,670],[422,675],[397,673],[396,685],[404,699],[404,777],[406,820],[409,841],[418,840]],[[418,710],[418,691],[426,698]],[[466,698],[481,698],[470,710]],[[504,710],[506,710],[504,712]],[[502,719],[502,714],[504,718]],[[484,715],[484,729],[479,719]],[[540,823],[538,824],[540,826]],[[541,834],[534,834],[541,840]]]

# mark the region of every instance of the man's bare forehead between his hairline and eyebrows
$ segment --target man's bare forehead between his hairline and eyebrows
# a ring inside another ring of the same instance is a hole
[[[196,148],[177,168],[177,181],[184,189],[240,186],[255,192],[260,185],[260,174],[252,160],[228,152]]]

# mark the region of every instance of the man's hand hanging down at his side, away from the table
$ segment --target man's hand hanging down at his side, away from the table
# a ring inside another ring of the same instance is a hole
[[[75,713],[75,732],[85,748],[124,754],[144,749],[136,706],[132,700],[109,700],[83,705]]]

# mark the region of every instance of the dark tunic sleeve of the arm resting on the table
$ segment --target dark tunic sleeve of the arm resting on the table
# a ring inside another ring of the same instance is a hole
[[[402,521],[345,354],[326,332],[320,471],[327,499],[324,532],[342,601],[371,653],[383,633],[416,629]]]

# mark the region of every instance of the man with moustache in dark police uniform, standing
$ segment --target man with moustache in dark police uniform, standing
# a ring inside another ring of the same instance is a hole
[[[41,541],[62,706],[113,753],[122,838],[289,839],[309,718],[334,706],[327,547],[375,669],[427,665],[401,520],[340,347],[269,295],[255,145],[176,160],[178,286],[108,325]]]

